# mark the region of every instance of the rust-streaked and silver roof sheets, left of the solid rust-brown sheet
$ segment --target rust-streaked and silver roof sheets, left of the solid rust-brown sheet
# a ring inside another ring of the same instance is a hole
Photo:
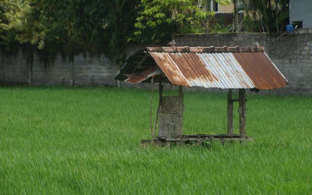
[[[167,78],[176,85],[206,88],[254,88],[232,53],[150,52]]]

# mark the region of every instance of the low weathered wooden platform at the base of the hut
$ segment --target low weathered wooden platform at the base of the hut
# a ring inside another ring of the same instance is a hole
[[[243,135],[183,135],[179,137],[155,137],[155,145],[170,146],[171,144],[182,145],[188,144],[190,146],[197,146],[204,144],[206,141],[221,141],[222,144],[228,141],[252,141],[252,137],[246,137]],[[142,144],[151,143],[151,139],[141,140]]]

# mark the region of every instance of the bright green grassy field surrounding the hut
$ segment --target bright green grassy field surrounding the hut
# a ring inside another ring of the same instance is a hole
[[[226,133],[226,94],[184,97],[185,134]],[[139,148],[149,101],[136,89],[1,88],[0,194],[312,193],[311,97],[248,95],[254,141],[212,149]]]

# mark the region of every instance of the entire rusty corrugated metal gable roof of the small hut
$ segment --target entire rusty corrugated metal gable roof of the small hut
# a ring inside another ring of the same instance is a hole
[[[162,47],[131,56],[116,77],[132,83],[156,81],[206,88],[275,89],[288,85],[263,48]]]

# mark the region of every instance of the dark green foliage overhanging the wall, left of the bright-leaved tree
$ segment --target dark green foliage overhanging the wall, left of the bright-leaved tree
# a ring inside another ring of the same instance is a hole
[[[120,61],[137,4],[137,0],[2,0],[0,44],[30,43],[42,49],[45,42],[93,42]]]

